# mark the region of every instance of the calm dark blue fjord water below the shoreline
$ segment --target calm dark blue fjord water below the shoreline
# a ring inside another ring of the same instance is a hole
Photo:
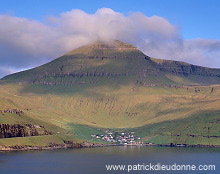
[[[117,146],[0,153],[2,174],[220,173],[220,149]],[[108,164],[188,164],[216,166],[215,171],[107,171]]]

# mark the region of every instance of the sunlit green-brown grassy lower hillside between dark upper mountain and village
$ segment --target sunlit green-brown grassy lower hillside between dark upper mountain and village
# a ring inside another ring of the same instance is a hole
[[[89,141],[97,129],[136,130],[139,127],[137,132],[146,142],[198,144],[208,139],[219,144],[218,138],[199,136],[191,141],[192,137],[186,134],[202,135],[208,127],[212,127],[210,135],[219,134],[220,86],[121,86],[115,89],[102,86],[83,90],[64,85],[46,86],[47,90],[45,85],[2,82],[0,110],[21,109],[24,116],[0,113],[0,122],[43,125],[54,134],[51,135],[55,137],[53,141],[59,139],[57,132],[60,138],[71,135],[73,140]],[[210,121],[215,123],[208,123]],[[0,144],[5,141],[0,140]]]

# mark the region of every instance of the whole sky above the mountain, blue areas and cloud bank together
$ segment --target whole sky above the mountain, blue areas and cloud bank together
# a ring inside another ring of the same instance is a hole
[[[110,39],[151,57],[220,68],[219,7],[219,0],[2,1],[0,78]]]

